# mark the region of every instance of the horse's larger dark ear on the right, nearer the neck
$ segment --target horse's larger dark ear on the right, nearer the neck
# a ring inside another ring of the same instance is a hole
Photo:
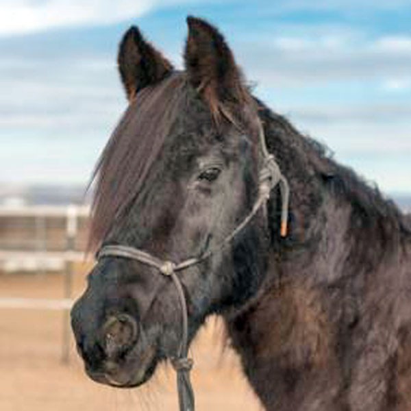
[[[188,16],[184,60],[188,80],[206,100],[214,116],[224,105],[244,103],[247,88],[234,55],[219,31],[200,18]]]

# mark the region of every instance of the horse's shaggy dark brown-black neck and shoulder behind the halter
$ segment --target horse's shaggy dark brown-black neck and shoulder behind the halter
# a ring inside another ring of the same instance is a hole
[[[226,316],[267,410],[411,408],[411,229],[393,201],[259,102],[291,187],[291,231],[271,204],[271,279]]]

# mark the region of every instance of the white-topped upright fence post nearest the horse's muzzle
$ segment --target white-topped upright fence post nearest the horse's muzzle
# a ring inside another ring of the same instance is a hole
[[[66,213],[66,269],[64,272],[64,298],[71,299],[73,293],[73,274],[75,251],[75,238],[77,236],[77,207],[74,205],[67,207]],[[70,310],[64,310],[63,314],[63,345],[62,362],[67,364],[70,359]]]

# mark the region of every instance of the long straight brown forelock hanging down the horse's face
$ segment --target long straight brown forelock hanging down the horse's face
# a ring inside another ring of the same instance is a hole
[[[123,114],[95,167],[88,249],[95,250],[136,198],[179,110],[186,79],[173,73],[140,90]]]

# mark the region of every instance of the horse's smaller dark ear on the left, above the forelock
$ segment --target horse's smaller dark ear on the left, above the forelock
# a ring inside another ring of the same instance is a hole
[[[129,100],[135,97],[138,90],[159,82],[173,70],[169,60],[147,42],[135,26],[130,27],[123,36],[117,61]]]

